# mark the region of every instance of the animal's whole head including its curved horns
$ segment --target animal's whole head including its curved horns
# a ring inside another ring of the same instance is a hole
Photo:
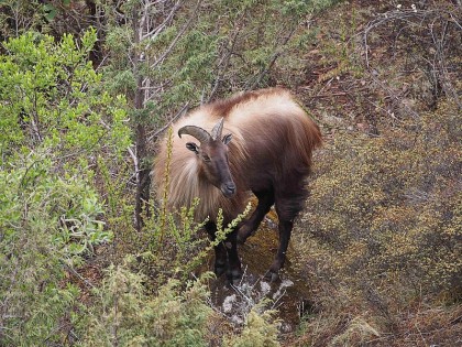
[[[178,130],[178,135],[189,134],[199,141],[199,144],[188,142],[186,148],[196,153],[206,178],[226,197],[232,197],[235,194],[235,184],[228,161],[228,144],[232,134],[228,133],[222,137],[222,130],[223,118],[218,121],[210,133],[200,127],[186,126]]]

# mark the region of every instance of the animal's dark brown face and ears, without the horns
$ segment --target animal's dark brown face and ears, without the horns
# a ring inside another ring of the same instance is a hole
[[[188,150],[196,153],[207,181],[219,188],[226,197],[232,197],[235,194],[235,184],[228,160],[228,144],[231,138],[231,134],[227,134],[222,139],[202,142],[200,145],[194,142],[186,144]]]

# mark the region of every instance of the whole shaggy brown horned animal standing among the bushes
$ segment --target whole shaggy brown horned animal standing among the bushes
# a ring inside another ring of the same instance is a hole
[[[227,271],[230,281],[237,281],[242,275],[237,242],[257,229],[274,204],[279,247],[266,278],[276,279],[294,218],[307,197],[312,151],[322,143],[318,126],[288,90],[270,88],[204,105],[173,128],[178,137],[172,144],[168,207],[190,206],[199,197],[196,218],[209,217],[206,229],[213,239],[218,209],[222,208],[228,225],[244,210],[248,192],[255,194],[258,204],[252,216],[216,247],[216,273]],[[166,162],[164,139],[154,166],[160,193],[165,189]]]

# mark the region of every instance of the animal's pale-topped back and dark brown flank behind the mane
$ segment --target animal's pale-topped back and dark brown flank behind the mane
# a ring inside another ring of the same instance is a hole
[[[312,150],[321,145],[322,138],[293,95],[286,89],[270,88],[244,94],[237,101],[223,116],[229,127],[239,128],[240,141],[249,153],[245,164],[240,162],[245,170],[239,171],[248,187],[258,189],[258,184],[267,185],[283,176],[308,175]],[[220,113],[220,108],[223,107],[218,104],[213,113]]]

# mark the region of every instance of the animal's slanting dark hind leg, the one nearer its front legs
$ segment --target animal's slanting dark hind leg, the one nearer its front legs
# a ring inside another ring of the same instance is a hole
[[[245,240],[256,231],[263,218],[270,212],[271,206],[274,204],[273,189],[253,192],[253,194],[258,198],[258,204],[252,216],[240,226],[238,231],[239,243],[244,243]]]

